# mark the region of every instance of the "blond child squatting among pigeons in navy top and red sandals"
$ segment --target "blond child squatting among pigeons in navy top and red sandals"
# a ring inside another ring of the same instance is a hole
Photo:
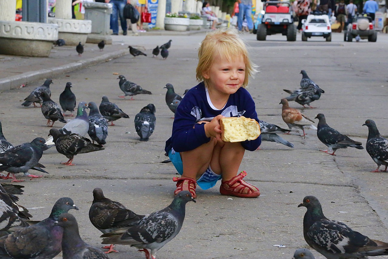
[[[172,135],[165,151],[182,177],[174,194],[190,191],[196,184],[209,189],[222,179],[220,193],[243,198],[260,195],[237,175],[245,150],[255,151],[261,137],[244,142],[223,142],[219,119],[245,117],[258,121],[255,102],[244,88],[256,72],[236,28],[210,32],[198,50],[197,86],[191,88],[177,107]]]

